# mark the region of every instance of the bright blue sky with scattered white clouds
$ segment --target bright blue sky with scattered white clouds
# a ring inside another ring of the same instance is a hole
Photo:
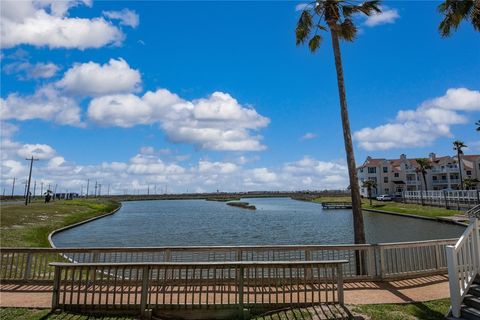
[[[329,37],[295,46],[300,2],[52,3],[1,3],[2,188],[32,153],[71,190],[348,185]],[[480,153],[480,34],[442,39],[438,4],[384,2],[342,44],[358,163]]]

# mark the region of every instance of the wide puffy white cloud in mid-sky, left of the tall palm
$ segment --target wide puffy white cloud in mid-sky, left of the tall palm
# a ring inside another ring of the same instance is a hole
[[[132,127],[158,123],[173,142],[191,143],[201,149],[263,150],[261,137],[252,130],[269,119],[242,106],[227,93],[214,92],[205,99],[186,101],[165,89],[95,98],[88,117],[104,126]]]

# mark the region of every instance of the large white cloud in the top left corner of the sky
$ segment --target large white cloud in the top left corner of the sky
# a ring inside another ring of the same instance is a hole
[[[11,1],[3,0],[0,44],[11,48],[22,44],[50,48],[100,48],[119,44],[122,31],[103,17],[69,17],[68,11],[90,1]]]

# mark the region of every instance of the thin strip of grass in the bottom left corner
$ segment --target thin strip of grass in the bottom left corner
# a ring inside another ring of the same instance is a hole
[[[69,312],[51,313],[49,309],[1,308],[2,320],[128,320],[132,317],[93,317]]]

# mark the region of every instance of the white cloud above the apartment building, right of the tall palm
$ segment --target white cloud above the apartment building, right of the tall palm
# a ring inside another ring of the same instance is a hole
[[[468,122],[466,113],[474,111],[480,111],[480,91],[452,88],[417,109],[400,110],[395,121],[355,132],[354,138],[368,151],[428,146],[450,137],[450,127]]]

